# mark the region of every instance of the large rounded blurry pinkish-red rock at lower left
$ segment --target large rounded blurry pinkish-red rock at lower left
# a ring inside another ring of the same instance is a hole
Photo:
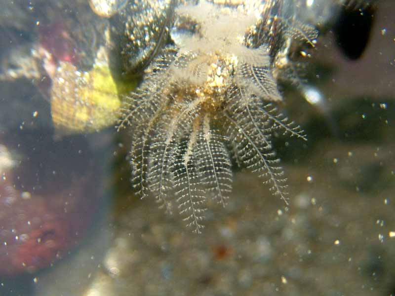
[[[102,180],[93,178],[92,159],[78,157],[78,147],[45,142],[35,142],[37,153],[1,174],[0,276],[35,272],[63,258],[92,225],[100,203]],[[48,170],[55,166],[53,177]]]

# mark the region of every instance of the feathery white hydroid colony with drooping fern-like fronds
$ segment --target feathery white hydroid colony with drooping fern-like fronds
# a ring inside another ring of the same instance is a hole
[[[174,45],[162,49],[125,100],[119,125],[134,127],[132,173],[139,193],[154,195],[168,212],[176,201],[198,233],[206,198],[227,202],[231,157],[287,202],[271,134],[282,129],[305,139],[273,106],[282,100],[273,68],[286,57],[285,39],[300,35],[287,31],[292,20],[272,14],[281,11],[279,1],[222,2],[232,3],[179,5],[170,33]],[[283,23],[285,29],[274,32]],[[277,51],[268,42],[276,34],[283,43]]]

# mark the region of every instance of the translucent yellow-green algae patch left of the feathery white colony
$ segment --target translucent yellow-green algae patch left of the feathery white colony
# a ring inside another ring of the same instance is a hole
[[[60,135],[95,132],[114,124],[120,95],[134,88],[134,83],[116,82],[107,63],[80,72],[61,62],[52,81],[52,121]]]

